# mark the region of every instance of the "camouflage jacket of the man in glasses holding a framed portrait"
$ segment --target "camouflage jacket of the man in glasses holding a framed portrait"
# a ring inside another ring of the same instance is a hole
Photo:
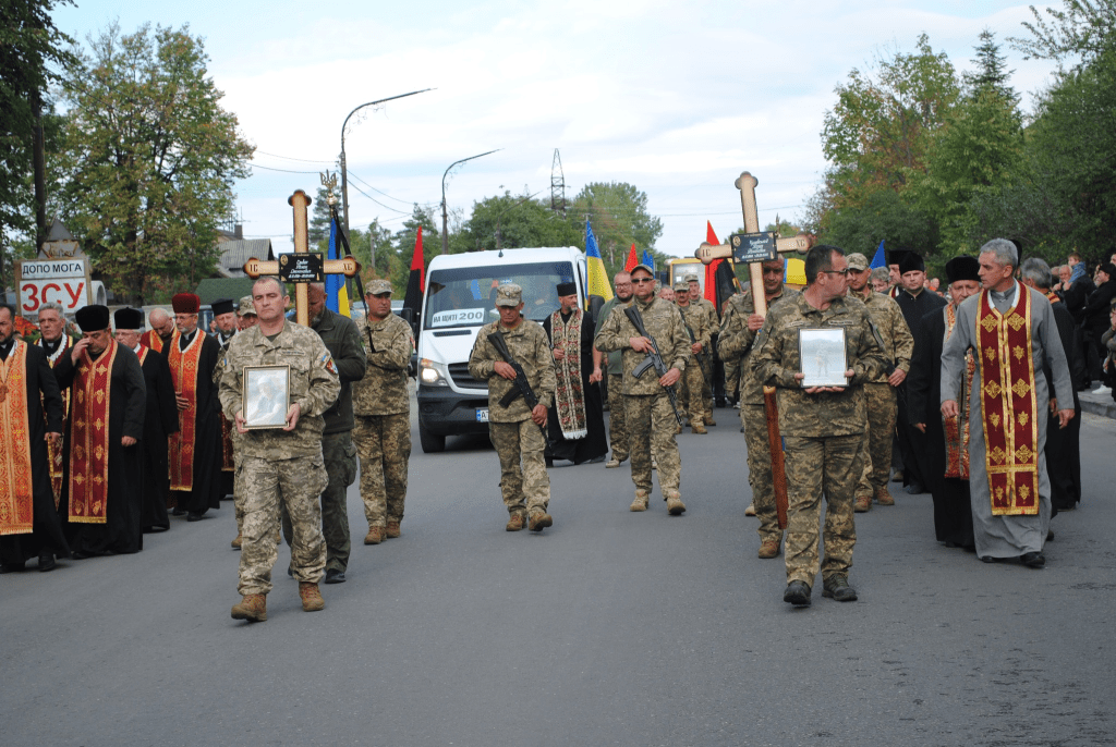
[[[868,310],[856,300],[836,298],[825,311],[799,294],[775,304],[759,331],[752,352],[760,384],[779,388],[779,427],[783,436],[848,436],[867,428],[865,381],[883,370],[883,351],[868,327]],[[795,378],[802,370],[798,332],[802,329],[844,329],[846,365],[856,373],[840,392],[808,395]]]

